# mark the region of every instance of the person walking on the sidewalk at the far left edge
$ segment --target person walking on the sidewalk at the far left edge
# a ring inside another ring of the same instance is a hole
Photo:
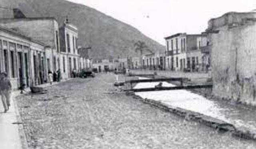
[[[0,95],[4,106],[4,113],[9,110],[12,84],[7,78],[7,73],[0,73]]]

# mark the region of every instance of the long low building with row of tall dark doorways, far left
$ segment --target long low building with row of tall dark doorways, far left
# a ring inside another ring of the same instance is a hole
[[[46,48],[13,29],[0,26],[0,72],[6,72],[14,89],[47,81]]]

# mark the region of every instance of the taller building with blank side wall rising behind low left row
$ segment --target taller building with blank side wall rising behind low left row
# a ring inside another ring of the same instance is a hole
[[[46,46],[46,70],[57,71],[60,67],[60,41],[58,22],[55,18],[6,18],[0,19],[0,25],[16,29]]]

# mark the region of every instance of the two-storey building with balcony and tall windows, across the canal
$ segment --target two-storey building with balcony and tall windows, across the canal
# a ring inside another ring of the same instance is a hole
[[[172,71],[202,71],[202,47],[207,44],[206,34],[177,33],[166,40],[166,69]]]

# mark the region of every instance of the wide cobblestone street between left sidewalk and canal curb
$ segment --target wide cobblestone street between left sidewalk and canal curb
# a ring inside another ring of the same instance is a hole
[[[255,149],[115,90],[113,74],[77,78],[18,96],[30,149]]]

